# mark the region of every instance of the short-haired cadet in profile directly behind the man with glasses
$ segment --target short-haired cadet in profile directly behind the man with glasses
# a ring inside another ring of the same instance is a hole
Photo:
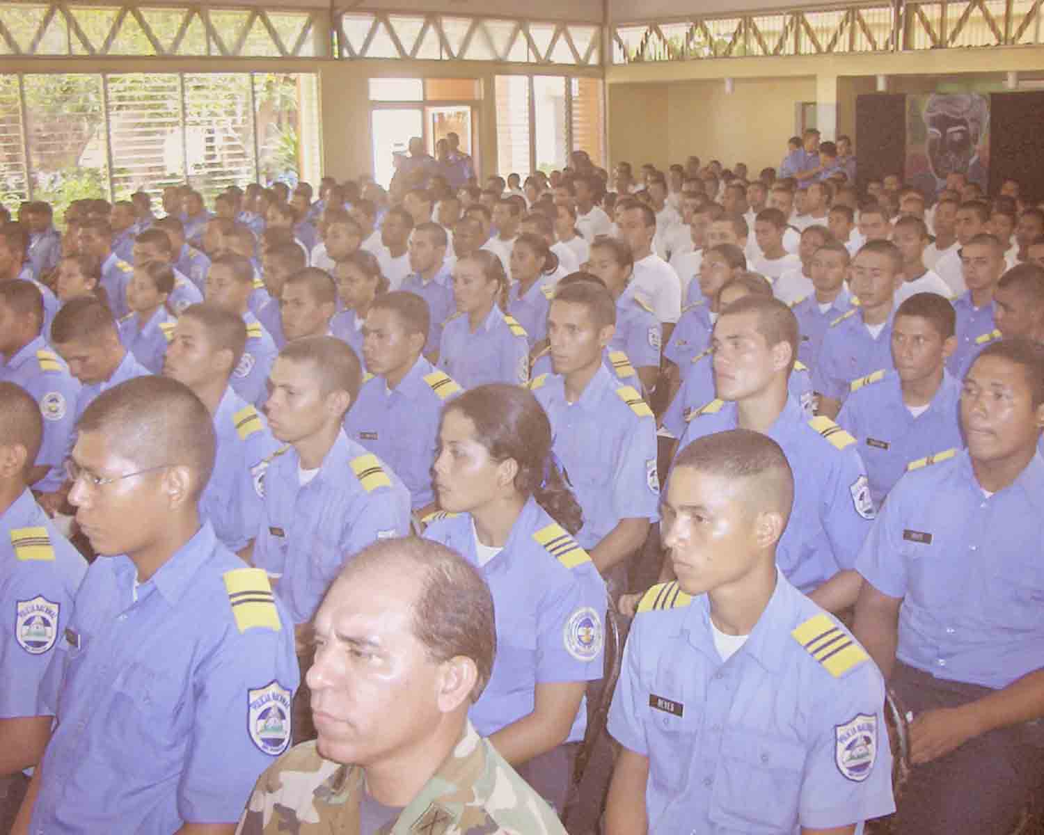
[[[163,374],[191,388],[214,419],[214,472],[199,511],[230,551],[248,557],[264,510],[264,460],[281,445],[264,415],[230,384],[246,341],[240,316],[216,305],[192,305],[177,319]]]

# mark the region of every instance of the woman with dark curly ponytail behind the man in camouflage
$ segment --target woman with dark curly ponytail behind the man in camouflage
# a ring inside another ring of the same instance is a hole
[[[424,535],[478,568],[496,610],[496,662],[471,721],[561,812],[586,685],[602,675],[607,594],[571,535],[583,517],[547,415],[518,386],[466,391],[443,410],[433,473],[444,510]]]

